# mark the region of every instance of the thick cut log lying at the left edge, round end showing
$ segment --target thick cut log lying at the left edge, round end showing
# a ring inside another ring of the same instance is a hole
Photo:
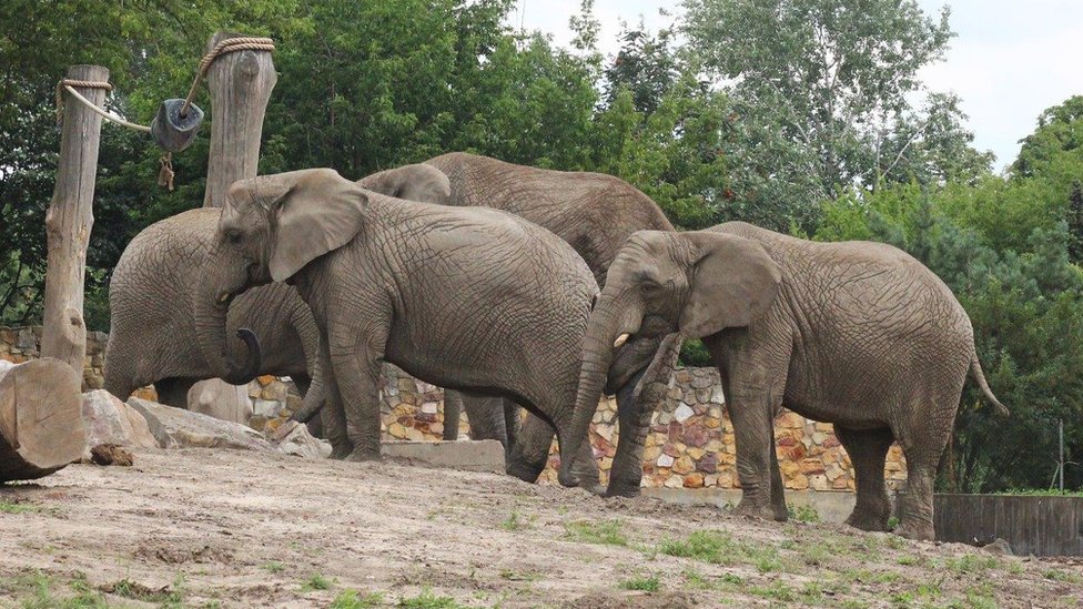
[[[83,456],[80,383],[51,357],[0,369],[0,481],[41,478]]]

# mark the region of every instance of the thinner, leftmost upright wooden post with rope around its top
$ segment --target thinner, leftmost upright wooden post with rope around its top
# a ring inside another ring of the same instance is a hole
[[[109,70],[101,65],[72,65],[68,69],[68,78],[108,82]],[[104,89],[75,89],[98,106],[105,103]],[[65,362],[81,377],[87,355],[83,278],[90,229],[94,224],[92,203],[102,119],[68,93],[63,97],[64,124],[57,186],[45,214],[49,256],[41,356]]]

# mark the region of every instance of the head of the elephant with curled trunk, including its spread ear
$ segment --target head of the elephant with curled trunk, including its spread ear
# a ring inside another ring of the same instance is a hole
[[[225,380],[246,383],[259,369],[254,339],[242,336],[249,345],[243,368],[229,356],[225,323],[233,298],[256,285],[287,282],[313,260],[345,245],[361,229],[367,203],[361,186],[330,169],[230,186],[195,292],[200,349],[216,369],[229,371]]]

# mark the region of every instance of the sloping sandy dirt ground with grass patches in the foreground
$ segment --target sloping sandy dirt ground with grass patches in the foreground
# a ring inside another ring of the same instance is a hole
[[[0,606],[1077,607],[1083,566],[506,476],[141,451],[0,487]]]

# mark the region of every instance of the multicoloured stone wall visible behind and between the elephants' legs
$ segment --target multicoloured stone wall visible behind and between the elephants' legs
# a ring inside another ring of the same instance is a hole
[[[38,356],[40,328],[0,327],[0,359],[20,363]],[[85,388],[102,386],[102,355],[107,336],[88,333]],[[385,439],[439,439],[444,433],[443,393],[395,366],[384,366],[381,395]],[[153,389],[141,390],[153,399]],[[289,378],[262,376],[249,386],[255,414],[250,425],[272,432],[297,407],[300,398]],[[668,488],[739,488],[733,428],[723,404],[718,371],[678,368],[666,404],[651,419],[644,453],[644,485]],[[468,433],[468,422],[459,428]],[[808,420],[785,410],[775,420],[779,467],[787,488],[796,490],[853,490],[853,468],[827,423]],[[590,441],[606,481],[616,453],[617,410],[604,399],[595,414]],[[556,484],[556,446],[543,480]],[[905,461],[898,445],[888,453],[888,486],[900,490]]]

